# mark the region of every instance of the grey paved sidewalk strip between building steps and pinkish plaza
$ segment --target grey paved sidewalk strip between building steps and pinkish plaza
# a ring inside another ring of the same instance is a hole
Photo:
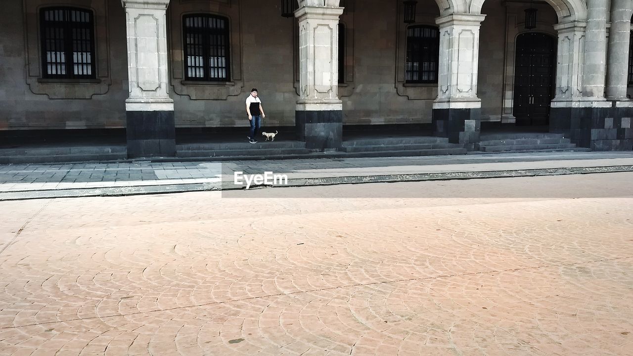
[[[234,172],[272,172],[287,176],[284,186],[315,186],[632,170],[632,152],[0,165],[0,200],[244,189]]]

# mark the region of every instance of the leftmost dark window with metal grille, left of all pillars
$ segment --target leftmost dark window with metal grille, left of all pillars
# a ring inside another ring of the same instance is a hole
[[[92,11],[56,7],[40,10],[42,77],[92,79],[94,16]]]

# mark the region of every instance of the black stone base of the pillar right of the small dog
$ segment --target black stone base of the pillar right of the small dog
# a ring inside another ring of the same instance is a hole
[[[343,111],[295,111],[297,139],[306,148],[341,148],[343,144]]]

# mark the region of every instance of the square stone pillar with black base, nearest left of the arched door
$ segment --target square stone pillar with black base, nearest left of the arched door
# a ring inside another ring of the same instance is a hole
[[[481,100],[477,98],[479,27],[486,15],[452,14],[439,25],[439,80],[433,103],[436,136],[474,149],[479,143]]]

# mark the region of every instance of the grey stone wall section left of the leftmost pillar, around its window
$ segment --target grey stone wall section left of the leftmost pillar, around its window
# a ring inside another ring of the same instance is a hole
[[[92,4],[101,9],[102,19],[108,18],[107,29],[101,28],[96,34],[101,35],[96,41],[104,44],[97,51],[106,52],[98,54],[106,70],[100,73],[104,75],[101,83],[91,86],[94,92],[99,92],[93,95],[80,84],[39,83],[39,75],[33,72],[39,70],[39,61],[33,68],[26,65],[34,61],[32,58],[39,58],[39,45],[37,21],[34,22],[37,17],[33,17],[37,15],[25,15],[23,9],[49,3],[58,4],[46,0],[3,2],[3,11],[0,11],[0,130],[123,127],[127,98],[123,8],[117,1],[101,0]],[[90,8],[93,2],[70,0],[68,3]],[[27,62],[27,48],[33,44],[35,53],[31,51]],[[50,99],[51,96],[60,99]],[[64,99],[86,96],[88,99]]]

